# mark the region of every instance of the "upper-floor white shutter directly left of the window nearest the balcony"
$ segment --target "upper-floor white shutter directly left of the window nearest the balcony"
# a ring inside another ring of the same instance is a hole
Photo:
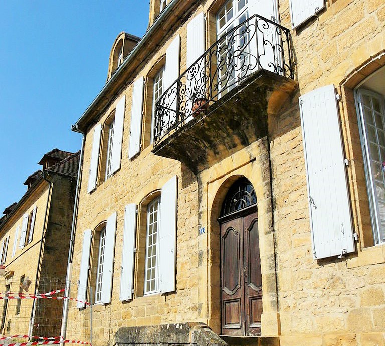
[[[142,108],[143,108],[143,84],[144,78],[140,77],[134,83],[132,92],[130,146],[128,158],[136,156],[140,151],[140,138],[142,132]]]

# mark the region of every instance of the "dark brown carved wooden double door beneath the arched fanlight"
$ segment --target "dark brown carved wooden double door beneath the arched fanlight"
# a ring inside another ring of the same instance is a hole
[[[223,335],[261,335],[262,275],[256,206],[218,219],[221,225]]]

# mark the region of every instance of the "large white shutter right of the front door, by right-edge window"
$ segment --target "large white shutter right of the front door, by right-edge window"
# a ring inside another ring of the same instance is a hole
[[[315,259],[354,251],[349,193],[333,85],[299,98]]]

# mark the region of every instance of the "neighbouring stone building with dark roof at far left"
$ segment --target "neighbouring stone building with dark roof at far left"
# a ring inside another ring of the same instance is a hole
[[[40,160],[27,192],[0,219],[2,297],[43,294],[65,286],[80,152],[58,149]],[[63,295],[63,293],[62,293]],[[57,295],[56,295],[57,296]],[[1,334],[60,335],[63,300],[1,300]],[[25,341],[25,340],[24,340]]]

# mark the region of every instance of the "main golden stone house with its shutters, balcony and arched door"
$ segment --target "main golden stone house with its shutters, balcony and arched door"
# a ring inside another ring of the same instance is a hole
[[[385,344],[384,28],[379,0],[151,0],[73,127],[95,345]]]

